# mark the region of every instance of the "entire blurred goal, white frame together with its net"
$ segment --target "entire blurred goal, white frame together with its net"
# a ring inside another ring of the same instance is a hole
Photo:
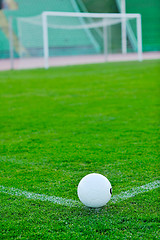
[[[132,29],[129,37],[121,33],[124,22]],[[18,18],[18,34],[22,67],[118,61],[122,42],[128,56],[142,60],[139,14],[43,12]]]

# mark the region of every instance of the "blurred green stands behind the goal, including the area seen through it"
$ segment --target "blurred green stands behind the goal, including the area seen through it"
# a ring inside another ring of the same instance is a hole
[[[41,14],[44,11],[140,13],[142,16],[143,52],[157,53],[160,51],[159,10],[159,0],[0,0],[0,59],[10,58],[11,62],[8,63],[8,68],[13,68],[13,59],[36,58],[38,62],[37,58],[39,60],[43,58]],[[48,18],[49,56],[90,54],[98,56],[103,54],[105,46],[101,27],[94,29],[88,27],[87,30],[83,28],[84,24],[94,21],[94,19],[75,20],[70,18],[70,21],[67,22],[65,18],[63,20],[62,18],[60,20],[54,17]],[[63,29],[52,27],[55,22],[61,24]],[[70,29],[68,31],[66,26],[71,25],[79,25],[79,30]],[[107,28],[108,54],[137,52],[136,20],[127,19],[126,21],[126,50],[122,46],[121,25],[121,21],[119,21],[117,24],[110,24]],[[119,58],[116,56],[116,59]],[[0,61],[1,68],[5,63],[5,61]],[[39,66],[42,65],[41,59]]]

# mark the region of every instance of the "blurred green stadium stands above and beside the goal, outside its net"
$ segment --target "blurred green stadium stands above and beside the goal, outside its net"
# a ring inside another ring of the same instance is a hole
[[[0,58],[9,58],[9,17],[13,16],[14,57],[19,57],[16,17],[29,17],[43,11],[88,11],[116,13],[119,0],[1,0],[0,1]],[[76,6],[76,7],[75,7]],[[160,1],[126,0],[127,13],[142,14],[143,51],[160,51]],[[116,31],[112,33],[116,34]],[[115,38],[116,39],[116,38]],[[115,40],[116,41],[116,40]],[[117,40],[118,41],[118,40]],[[118,44],[118,43],[117,43]],[[115,42],[116,45],[116,42]]]

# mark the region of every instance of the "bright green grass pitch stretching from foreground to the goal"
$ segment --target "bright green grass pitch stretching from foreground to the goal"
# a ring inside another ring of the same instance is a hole
[[[158,188],[99,210],[18,194],[157,181],[159,79],[160,61],[0,72],[0,239],[159,239]]]

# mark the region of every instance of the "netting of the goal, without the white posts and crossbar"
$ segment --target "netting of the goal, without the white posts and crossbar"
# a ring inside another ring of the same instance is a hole
[[[127,52],[137,51],[136,19],[126,17],[131,37]],[[49,57],[122,52],[122,18],[47,16]],[[44,56],[42,15],[18,18],[21,58]],[[114,37],[113,37],[114,36]]]

